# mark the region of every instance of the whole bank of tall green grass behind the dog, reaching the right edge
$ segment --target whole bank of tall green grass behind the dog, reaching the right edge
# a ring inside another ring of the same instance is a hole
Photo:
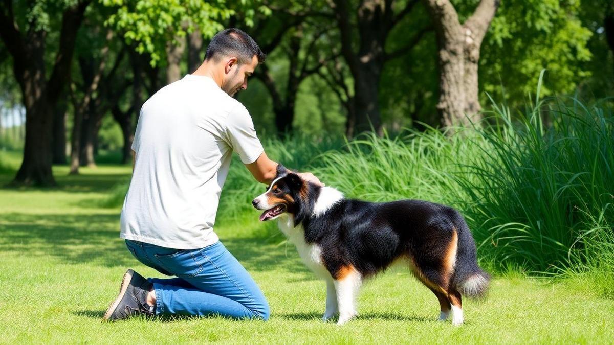
[[[459,209],[497,271],[597,274],[614,291],[614,117],[607,102],[546,99],[480,126],[366,134],[322,155],[321,178],[370,201],[418,198]],[[544,118],[548,119],[545,121]]]

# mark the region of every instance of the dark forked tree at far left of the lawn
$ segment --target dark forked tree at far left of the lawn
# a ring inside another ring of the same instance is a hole
[[[55,185],[52,165],[52,125],[55,104],[69,80],[77,29],[89,0],[27,4],[4,0],[0,9],[0,37],[13,58],[13,70],[26,108],[23,161],[14,184]],[[61,15],[54,12],[59,11]],[[17,17],[15,14],[18,14]],[[61,17],[60,23],[54,23]],[[60,26],[58,51],[47,79],[45,39],[52,26]]]

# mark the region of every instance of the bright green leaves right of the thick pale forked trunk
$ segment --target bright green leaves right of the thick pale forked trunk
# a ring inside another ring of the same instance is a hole
[[[502,1],[481,52],[482,90],[495,93],[503,85],[502,96],[518,106],[546,69],[543,95],[572,93],[591,76],[585,67],[592,56],[591,31],[581,22],[580,9],[580,0]]]

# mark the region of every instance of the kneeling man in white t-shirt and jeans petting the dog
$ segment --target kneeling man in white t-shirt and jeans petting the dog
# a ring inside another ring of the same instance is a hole
[[[269,318],[263,293],[213,231],[233,151],[259,182],[275,176],[278,164],[266,157],[252,118],[232,98],[264,58],[252,37],[225,29],[193,74],[143,104],[120,237],[141,263],[176,277],[145,279],[128,269],[104,320],[139,314]],[[303,177],[319,182],[309,173]]]

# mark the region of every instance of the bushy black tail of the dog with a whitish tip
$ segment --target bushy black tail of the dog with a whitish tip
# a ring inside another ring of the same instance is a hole
[[[484,299],[488,295],[491,276],[478,266],[475,241],[467,223],[460,214],[456,218],[458,244],[452,286],[464,297]]]

